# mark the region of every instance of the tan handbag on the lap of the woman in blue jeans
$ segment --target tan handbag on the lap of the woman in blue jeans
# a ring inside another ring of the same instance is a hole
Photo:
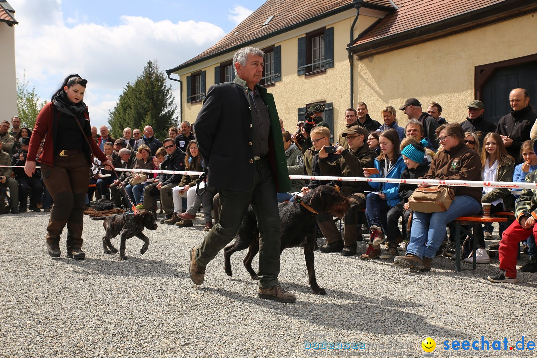
[[[412,211],[418,211],[418,213],[439,213],[449,209],[453,200],[455,200],[453,189],[445,186],[430,186],[417,188],[408,199],[408,204]]]

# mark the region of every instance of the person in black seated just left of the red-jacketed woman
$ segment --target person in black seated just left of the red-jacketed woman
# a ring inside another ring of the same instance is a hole
[[[20,142],[20,150],[11,159],[12,165],[24,167],[28,157],[28,145],[30,145],[30,137],[23,138]],[[42,200],[43,195],[43,185],[39,173],[35,172],[33,176],[28,177],[24,168],[14,168],[13,171],[15,179],[19,183],[19,212],[26,213],[28,193],[30,193],[30,207],[28,209],[38,213],[41,210],[37,207],[37,203]],[[30,191],[30,189],[32,190]]]

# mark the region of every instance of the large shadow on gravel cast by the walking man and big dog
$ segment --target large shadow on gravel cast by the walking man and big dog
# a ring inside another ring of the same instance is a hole
[[[257,286],[257,285],[256,285]],[[315,326],[329,326],[339,330],[350,331],[367,331],[379,335],[409,333],[418,336],[431,335],[441,332],[441,335],[447,337],[462,337],[465,332],[453,330],[445,326],[427,323],[427,317],[411,313],[408,310],[403,311],[400,308],[410,308],[410,311],[418,312],[420,305],[412,302],[397,301],[389,297],[383,297],[380,301],[371,301],[370,297],[355,295],[338,290],[327,290],[328,295],[336,293],[338,299],[348,300],[349,303],[339,304],[333,302],[315,303],[310,301],[300,301],[301,296],[311,293],[309,286],[303,286],[296,283],[282,282],[289,291],[299,293],[297,301],[294,304],[285,304],[265,299],[259,299],[252,296],[243,296],[233,291],[205,287],[204,290],[213,294],[220,295],[233,301],[257,305],[262,309],[269,311],[279,311],[281,315],[307,320]],[[252,287],[253,288],[253,287]],[[311,293],[313,295],[313,293]],[[386,319],[375,319],[374,317],[389,317],[389,327]],[[366,320],[360,320],[360,317],[367,317]]]

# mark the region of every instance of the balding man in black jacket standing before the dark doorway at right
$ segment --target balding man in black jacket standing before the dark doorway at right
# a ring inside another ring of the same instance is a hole
[[[509,93],[509,104],[513,110],[500,118],[496,133],[502,137],[507,153],[516,160],[515,164],[519,164],[522,163],[520,147],[522,142],[529,140],[537,114],[529,105],[528,92],[523,88]]]

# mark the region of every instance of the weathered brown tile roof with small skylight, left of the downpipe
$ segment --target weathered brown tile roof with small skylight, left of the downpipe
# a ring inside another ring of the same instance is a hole
[[[365,0],[363,6],[387,12],[395,10],[390,0]],[[353,9],[351,0],[300,0],[300,6],[297,5],[296,0],[267,0],[215,45],[166,72],[176,71],[220,53],[247,46],[262,38],[286,32],[291,28],[303,26],[349,9]],[[274,18],[269,24],[262,26],[271,16]]]

